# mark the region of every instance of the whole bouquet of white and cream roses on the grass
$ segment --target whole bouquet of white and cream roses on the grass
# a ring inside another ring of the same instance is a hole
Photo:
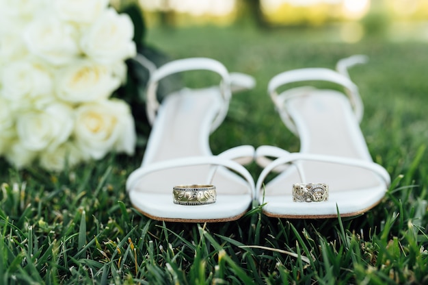
[[[129,105],[111,97],[136,53],[108,0],[0,0],[0,156],[60,171],[132,154]]]

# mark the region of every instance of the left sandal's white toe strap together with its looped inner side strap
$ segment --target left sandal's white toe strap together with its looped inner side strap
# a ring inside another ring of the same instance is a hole
[[[129,175],[128,179],[126,180],[126,191],[131,191],[133,188],[135,188],[135,185],[138,183],[139,179],[144,177],[144,175],[147,175],[149,173],[162,171],[164,169],[174,169],[178,167],[184,167],[184,166],[198,166],[198,165],[204,165],[204,164],[211,164],[215,167],[211,168],[211,171],[209,172],[209,175],[206,177],[206,184],[211,184],[211,180],[213,179],[213,176],[215,175],[215,171],[217,171],[217,166],[224,166],[228,169],[231,169],[232,171],[235,171],[239,173],[250,186],[250,192],[252,197],[256,197],[256,188],[254,186],[254,179],[250,172],[248,172],[247,169],[245,169],[244,166],[239,164],[238,162],[234,160],[239,160],[240,158],[253,158],[254,157],[254,147],[252,146],[241,146],[241,147],[235,147],[232,149],[228,149],[227,151],[224,151],[223,153],[220,153],[218,156],[193,156],[193,157],[186,157],[186,158],[177,158],[174,160],[165,160],[161,162],[155,162],[152,164],[149,164],[148,166],[142,166],[138,169],[135,169]]]

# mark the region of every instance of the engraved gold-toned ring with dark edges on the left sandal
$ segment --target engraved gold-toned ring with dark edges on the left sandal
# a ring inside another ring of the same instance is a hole
[[[173,201],[180,205],[206,205],[215,202],[217,193],[213,185],[179,185],[172,188]]]

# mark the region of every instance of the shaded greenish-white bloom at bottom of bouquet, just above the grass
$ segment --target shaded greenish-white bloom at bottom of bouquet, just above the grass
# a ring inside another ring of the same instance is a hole
[[[62,171],[65,166],[75,166],[83,160],[81,152],[71,142],[59,145],[51,151],[40,153],[40,165],[50,171]]]

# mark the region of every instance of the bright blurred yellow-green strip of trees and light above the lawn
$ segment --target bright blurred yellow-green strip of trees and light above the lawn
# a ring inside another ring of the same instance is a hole
[[[329,40],[349,43],[372,34],[428,40],[426,0],[116,0],[116,5],[129,3],[142,8],[149,28],[329,26],[335,30]]]

